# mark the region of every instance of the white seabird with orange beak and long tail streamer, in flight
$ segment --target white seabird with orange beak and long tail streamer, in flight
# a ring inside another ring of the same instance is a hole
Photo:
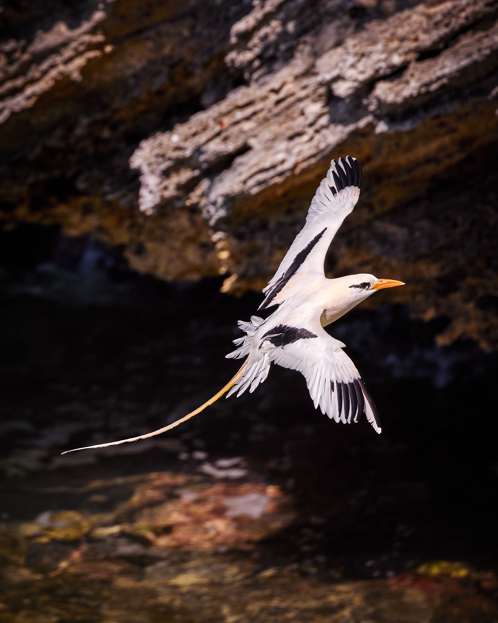
[[[357,422],[365,414],[373,429],[380,433],[377,409],[354,363],[342,350],[345,344],[324,330],[324,326],[341,318],[377,290],[405,285],[366,273],[336,279],[325,276],[327,249],[356,205],[361,182],[362,169],[356,158],[346,156],[337,163],[331,161],[311,201],[303,229],[263,290],[265,300],[260,310],[278,307],[265,320],[251,316],[250,321],[238,323],[246,335],[234,340],[237,349],[227,354],[227,358],[245,358],[245,361],[223,389],[195,411],[161,429],[75,450],[105,448],[171,430],[204,411],[226,392],[227,397],[235,392],[240,396],[247,389],[253,392],[265,381],[272,363],[303,374],[315,408],[319,406],[331,419],[345,424]]]

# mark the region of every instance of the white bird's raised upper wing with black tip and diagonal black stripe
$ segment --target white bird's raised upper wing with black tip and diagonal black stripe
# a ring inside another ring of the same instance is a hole
[[[327,176],[309,206],[306,224],[294,240],[275,276],[263,290],[266,297],[260,309],[276,305],[276,295],[289,279],[302,270],[316,270],[324,274],[327,249],[342,225],[352,212],[362,183],[362,168],[356,158],[346,156],[331,162]]]

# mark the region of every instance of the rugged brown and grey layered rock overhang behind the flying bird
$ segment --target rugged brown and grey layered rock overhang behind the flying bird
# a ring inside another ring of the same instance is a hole
[[[9,226],[58,222],[142,272],[261,288],[349,153],[364,188],[329,275],[402,278],[390,298],[448,316],[441,343],[497,345],[494,0],[54,7],[4,16]]]

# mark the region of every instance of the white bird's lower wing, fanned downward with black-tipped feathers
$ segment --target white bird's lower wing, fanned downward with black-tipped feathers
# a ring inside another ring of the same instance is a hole
[[[281,335],[280,335],[281,334]],[[321,326],[276,327],[268,341],[271,361],[298,370],[308,384],[315,409],[336,422],[357,422],[362,413],[380,433],[377,409],[344,344],[334,340]]]

